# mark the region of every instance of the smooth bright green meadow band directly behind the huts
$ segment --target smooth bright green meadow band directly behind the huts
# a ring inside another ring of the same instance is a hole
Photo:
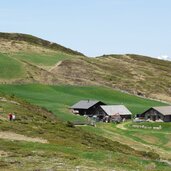
[[[111,88],[95,86],[0,85],[0,92],[46,107],[65,121],[79,119],[71,114],[69,107],[82,99],[96,99],[107,104],[124,104],[133,114],[141,113],[151,106],[165,105]]]

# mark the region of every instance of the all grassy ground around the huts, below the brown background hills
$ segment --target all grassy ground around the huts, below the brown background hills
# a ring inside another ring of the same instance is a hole
[[[6,98],[0,98],[3,108],[3,114],[0,114],[0,166],[3,169],[75,170],[77,166],[83,171],[170,169],[168,164],[156,160],[157,153],[162,159],[171,160],[167,126],[157,132],[134,129],[129,122],[124,129],[120,128],[122,125],[105,123],[99,123],[97,127],[71,127],[57,119],[82,119],[71,114],[68,107],[83,98],[99,99],[109,104],[122,102],[132,112],[163,105],[160,102],[101,87],[0,85],[0,94]],[[16,113],[15,122],[7,120],[9,112]],[[2,131],[9,136],[11,132],[15,133],[12,136],[15,140],[2,138]],[[21,135],[25,135],[24,139]],[[28,140],[30,137],[33,139]],[[156,145],[155,141],[160,143]]]

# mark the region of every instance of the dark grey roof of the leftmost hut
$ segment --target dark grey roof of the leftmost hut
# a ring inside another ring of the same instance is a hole
[[[95,104],[99,103],[97,100],[81,100],[78,103],[71,106],[71,109],[89,109]]]

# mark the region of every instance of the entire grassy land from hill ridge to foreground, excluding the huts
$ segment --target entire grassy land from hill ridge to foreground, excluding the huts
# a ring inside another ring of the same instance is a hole
[[[86,118],[69,109],[82,99],[122,104],[133,115],[168,105],[170,69],[170,62],[149,57],[88,58],[30,35],[1,33],[0,169],[170,171],[171,123],[74,126]]]

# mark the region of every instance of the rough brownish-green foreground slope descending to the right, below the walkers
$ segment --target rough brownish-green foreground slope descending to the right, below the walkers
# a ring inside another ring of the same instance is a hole
[[[169,171],[155,153],[63,124],[51,112],[14,96],[1,97],[0,105],[0,170]],[[7,120],[9,112],[16,113],[15,121]]]

